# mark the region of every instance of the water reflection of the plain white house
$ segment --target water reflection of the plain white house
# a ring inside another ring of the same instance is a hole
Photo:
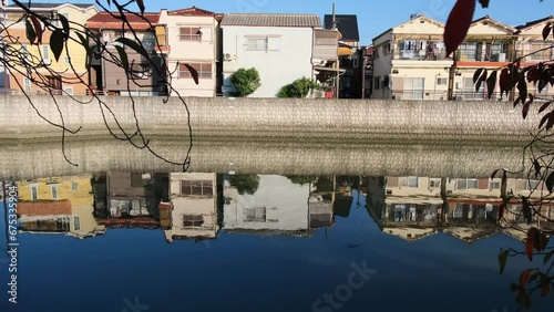
[[[294,184],[284,176],[259,176],[253,195],[239,194],[224,178],[224,228],[229,232],[258,235],[311,235],[309,229],[309,185]],[[327,211],[316,208],[315,211]]]

